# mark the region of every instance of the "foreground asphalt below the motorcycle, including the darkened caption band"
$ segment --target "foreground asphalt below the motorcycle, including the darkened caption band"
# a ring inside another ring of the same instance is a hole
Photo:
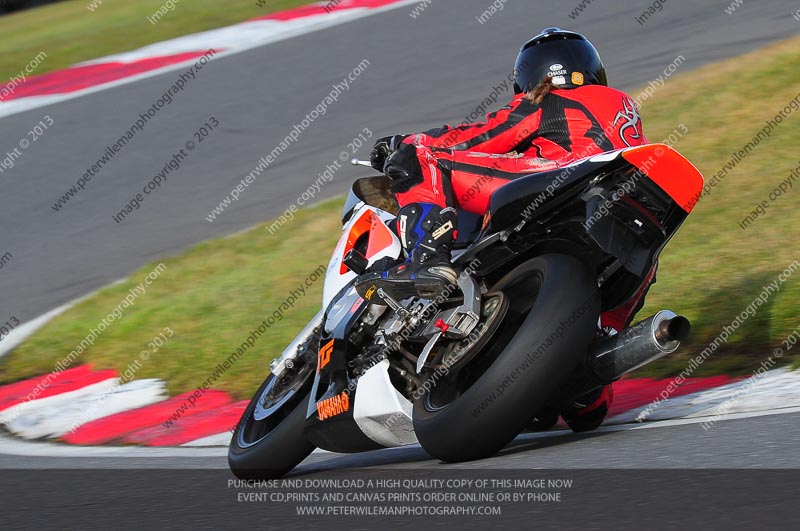
[[[0,511],[9,529],[787,529],[800,487],[800,413],[699,423],[667,421],[645,429],[605,427],[587,435],[530,434],[500,455],[462,464],[432,460],[418,447],[353,456],[314,454],[290,479],[301,481],[490,481],[566,479],[558,502],[500,506],[492,517],[300,517],[298,506],[239,498],[250,493],[376,492],[378,489],[246,487],[225,469],[222,449],[140,449],[150,457],[0,457]],[[621,430],[621,431],[620,431]],[[0,438],[0,448],[8,441]],[[77,449],[70,449],[77,450]],[[110,450],[122,449],[102,449]],[[147,450],[147,451],[145,451]],[[152,450],[152,451],[149,451]],[[189,457],[194,454],[194,457]],[[390,489],[391,490],[391,489]],[[441,489],[454,492],[456,489]],[[506,491],[509,491],[508,489]],[[519,489],[517,489],[519,490]],[[554,490],[554,489],[550,489]],[[409,487],[403,492],[433,492]],[[476,489],[461,489],[476,492]],[[529,492],[533,492],[529,489]],[[264,494],[266,493],[266,494]],[[316,504],[327,506],[331,504]],[[371,504],[333,504],[368,507]],[[375,504],[380,505],[380,504]],[[447,504],[425,504],[438,508]],[[478,507],[480,503],[461,503]]]

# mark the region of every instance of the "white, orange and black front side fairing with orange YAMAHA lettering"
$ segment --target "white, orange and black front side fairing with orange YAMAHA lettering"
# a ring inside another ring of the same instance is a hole
[[[389,380],[388,361],[376,363],[360,378],[353,378],[348,366],[355,356],[348,338],[369,304],[352,287],[357,275],[347,269],[343,259],[354,248],[370,265],[384,258],[397,259],[400,240],[386,226],[392,219],[387,212],[361,205],[345,224],[328,266],[326,311],[305,434],[315,446],[332,452],[363,452],[416,442],[411,403]]]

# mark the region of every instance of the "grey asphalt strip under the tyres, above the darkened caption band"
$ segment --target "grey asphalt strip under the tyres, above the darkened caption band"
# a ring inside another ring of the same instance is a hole
[[[684,423],[687,422],[687,423]],[[443,464],[418,445],[361,454],[315,452],[291,475],[353,469],[436,471],[525,469],[800,469],[796,441],[800,412],[720,421],[705,430],[698,420],[604,426],[588,434],[568,430],[526,433],[499,455]],[[90,448],[17,442],[0,437],[0,469],[222,469],[225,448]],[[83,453],[84,457],[77,457]],[[800,474],[798,474],[800,478]]]

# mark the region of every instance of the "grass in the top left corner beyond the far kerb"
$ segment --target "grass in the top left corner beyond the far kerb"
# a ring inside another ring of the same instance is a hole
[[[92,0],[69,0],[19,11],[0,17],[0,79],[18,75],[42,51],[47,58],[33,74],[235,24],[310,1],[269,0],[258,7],[256,0],[182,0],[156,24],[147,17],[164,5],[164,0],[104,0],[94,12],[87,9]]]

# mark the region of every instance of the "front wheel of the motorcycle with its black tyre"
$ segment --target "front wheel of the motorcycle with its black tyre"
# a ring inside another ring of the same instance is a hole
[[[314,451],[303,434],[314,380],[313,355],[319,335],[305,343],[305,353],[281,378],[270,374],[258,388],[236,426],[228,465],[241,479],[278,478]]]

